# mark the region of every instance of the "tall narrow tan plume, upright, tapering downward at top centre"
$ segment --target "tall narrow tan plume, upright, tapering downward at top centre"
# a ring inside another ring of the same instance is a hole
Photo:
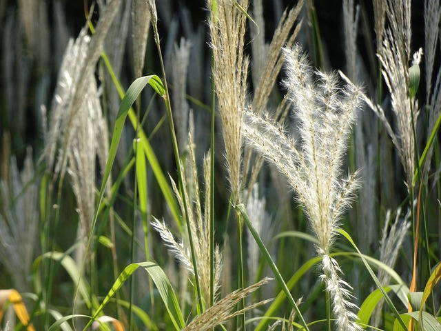
[[[213,2],[207,0],[208,8],[214,7]],[[248,3],[248,0],[240,1],[240,6],[247,10]],[[241,123],[249,64],[249,59],[244,55],[246,20],[245,14],[234,6],[232,0],[218,0],[216,10],[210,10],[214,85],[222,120],[229,185],[235,205],[240,203],[242,195]]]

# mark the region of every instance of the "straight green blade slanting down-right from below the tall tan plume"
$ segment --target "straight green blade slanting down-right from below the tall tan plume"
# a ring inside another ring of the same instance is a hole
[[[285,292],[285,295],[287,296],[289,303],[291,303],[294,310],[296,310],[298,318],[300,319],[300,321],[302,321],[303,325],[305,325],[305,330],[309,331],[308,325],[307,325],[305,319],[303,318],[302,313],[298,309],[298,305],[296,304],[296,301],[294,301],[294,298],[291,296],[291,292],[289,292],[287,284],[285,283],[282,275],[278,271],[276,263],[274,263],[273,259],[271,258],[271,255],[269,254],[267,248],[265,247],[265,244],[263,243],[263,241],[260,238],[259,234],[257,233],[256,229],[254,228],[251,220],[249,219],[247,210],[245,209],[245,205],[243,205],[243,203],[236,205],[236,210],[238,212],[240,212],[240,214],[242,215],[243,220],[245,221],[245,224],[247,225],[247,227],[249,229],[249,232],[251,232],[254,240],[256,241],[256,243],[260,249],[260,252],[262,252],[263,257],[265,258],[265,260],[269,264],[269,267],[273,271],[274,276],[276,277],[276,279],[278,281],[278,284],[283,289],[283,292]]]

